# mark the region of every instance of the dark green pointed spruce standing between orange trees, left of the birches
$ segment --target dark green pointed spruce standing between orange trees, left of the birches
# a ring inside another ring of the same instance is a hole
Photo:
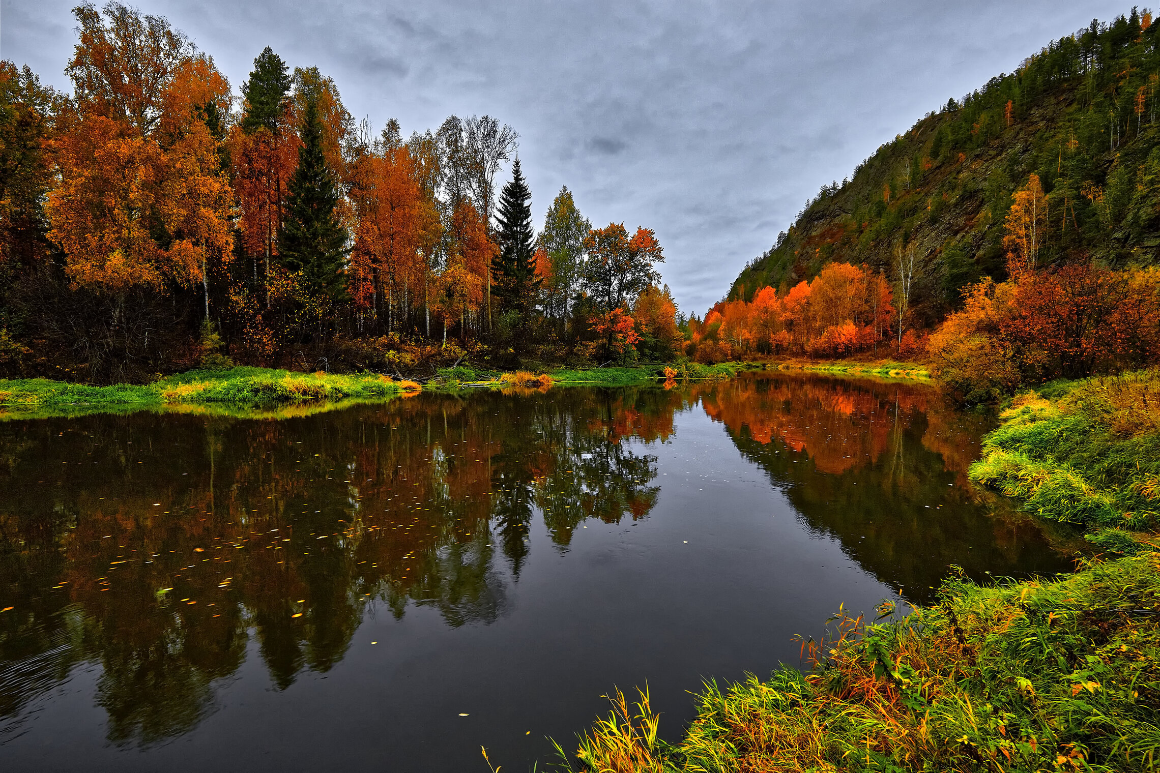
[[[288,270],[303,274],[309,292],[340,301],[346,296],[343,268],[349,250],[334,211],[339,191],[322,155],[322,122],[316,100],[309,100],[303,110],[300,137],[278,251]]]

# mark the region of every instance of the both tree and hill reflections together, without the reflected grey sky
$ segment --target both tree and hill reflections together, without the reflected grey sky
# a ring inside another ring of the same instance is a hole
[[[661,495],[648,444],[675,442],[674,417],[698,407],[809,528],[911,598],[949,562],[1060,568],[1037,526],[972,498],[963,473],[984,420],[925,386],[760,374],[423,394],[284,421],[9,422],[0,742],[79,663],[100,666],[108,739],[150,745],[212,712],[216,680],[252,641],[285,690],[343,658],[369,605],[490,623],[520,582],[534,518],[566,552],[586,519],[647,516]]]

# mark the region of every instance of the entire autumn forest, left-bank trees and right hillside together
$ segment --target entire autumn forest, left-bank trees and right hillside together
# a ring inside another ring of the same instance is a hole
[[[567,188],[537,229],[494,117],[376,130],[269,48],[235,93],[165,19],[74,14],[71,96],[0,72],[7,377],[854,357],[930,363],[979,401],[1160,356],[1146,12],[824,185],[704,316],[677,312],[652,229],[593,227]]]

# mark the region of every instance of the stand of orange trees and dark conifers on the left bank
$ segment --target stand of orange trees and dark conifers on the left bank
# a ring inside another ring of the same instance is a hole
[[[564,188],[537,234],[510,126],[372,131],[269,48],[238,95],[164,19],[74,14],[72,96],[0,68],[5,375],[679,353],[653,232]]]

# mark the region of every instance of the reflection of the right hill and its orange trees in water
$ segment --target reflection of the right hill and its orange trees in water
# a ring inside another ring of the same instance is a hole
[[[919,604],[951,566],[976,581],[1053,573],[1076,547],[1066,526],[970,483],[993,418],[957,410],[928,385],[760,374],[701,399],[809,528]]]

